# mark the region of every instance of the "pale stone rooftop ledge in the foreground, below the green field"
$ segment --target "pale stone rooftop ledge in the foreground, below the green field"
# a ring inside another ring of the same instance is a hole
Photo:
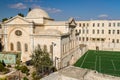
[[[41,80],[120,80],[120,77],[101,74],[93,70],[69,66]]]

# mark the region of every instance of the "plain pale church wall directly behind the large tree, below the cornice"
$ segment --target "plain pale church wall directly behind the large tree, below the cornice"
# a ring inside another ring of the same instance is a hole
[[[56,36],[34,36],[34,49],[38,44],[43,48],[44,45],[47,46],[47,50],[50,53],[50,46],[53,46],[53,54],[50,54],[50,57],[53,56],[53,62],[55,65],[55,57],[61,58],[61,37]],[[57,63],[56,63],[57,65]],[[55,65],[55,66],[56,66]]]

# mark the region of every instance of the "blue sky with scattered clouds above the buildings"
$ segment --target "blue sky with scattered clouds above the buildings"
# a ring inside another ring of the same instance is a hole
[[[55,20],[120,19],[120,0],[0,0],[0,20],[42,8]]]

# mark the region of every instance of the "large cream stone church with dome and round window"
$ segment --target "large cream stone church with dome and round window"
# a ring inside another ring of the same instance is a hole
[[[21,52],[25,62],[40,45],[48,50],[57,68],[68,66],[80,57],[76,25],[73,18],[54,21],[44,10],[33,9],[26,17],[15,16],[2,23],[3,51]]]

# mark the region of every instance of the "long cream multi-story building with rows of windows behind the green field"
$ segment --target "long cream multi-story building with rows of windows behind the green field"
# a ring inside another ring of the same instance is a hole
[[[76,21],[79,44],[88,49],[120,50],[120,20]]]

